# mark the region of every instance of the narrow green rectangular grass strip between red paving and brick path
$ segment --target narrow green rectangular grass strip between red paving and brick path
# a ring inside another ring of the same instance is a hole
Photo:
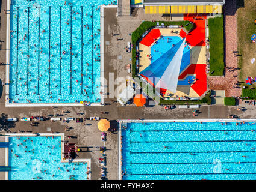
[[[210,40],[210,75],[223,76],[224,31],[223,16],[208,19]]]

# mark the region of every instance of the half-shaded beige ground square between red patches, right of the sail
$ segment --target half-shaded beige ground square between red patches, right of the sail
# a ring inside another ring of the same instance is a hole
[[[206,63],[205,47],[191,47],[190,48],[190,63],[191,64],[205,64]]]

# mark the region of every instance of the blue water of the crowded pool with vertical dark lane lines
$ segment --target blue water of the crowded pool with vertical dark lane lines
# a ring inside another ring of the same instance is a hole
[[[100,102],[99,5],[117,1],[12,2],[10,103]]]

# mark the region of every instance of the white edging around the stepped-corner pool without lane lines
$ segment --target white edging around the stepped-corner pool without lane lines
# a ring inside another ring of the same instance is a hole
[[[36,137],[33,133],[8,133],[5,134],[5,142],[9,142],[9,137],[24,137],[24,136],[29,136],[29,137]],[[69,163],[69,160],[63,160],[64,159],[64,141],[65,137],[64,137],[64,133],[39,133],[39,136],[37,137],[45,137],[45,136],[58,136],[61,137],[61,163]],[[5,148],[5,166],[8,166],[9,164],[9,155],[8,155],[8,148]],[[77,162],[84,162],[87,163],[87,167],[90,167],[90,172],[87,175],[89,180],[91,180],[92,176],[91,176],[91,171],[92,171],[92,167],[91,167],[91,159],[90,158],[80,158],[80,159],[74,159],[72,161],[72,163],[77,163]],[[5,172],[5,180],[8,180],[8,172]]]

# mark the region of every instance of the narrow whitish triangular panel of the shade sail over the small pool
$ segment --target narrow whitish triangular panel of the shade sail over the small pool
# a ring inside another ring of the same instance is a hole
[[[156,87],[164,88],[169,91],[172,91],[173,93],[176,93],[177,86],[178,86],[178,77],[179,77],[180,68],[181,68],[181,60],[183,57],[184,45],[185,45],[185,38],[183,40],[183,43],[175,53],[172,61],[170,61],[170,64],[164,71],[163,76],[161,76],[160,80],[158,81]]]

